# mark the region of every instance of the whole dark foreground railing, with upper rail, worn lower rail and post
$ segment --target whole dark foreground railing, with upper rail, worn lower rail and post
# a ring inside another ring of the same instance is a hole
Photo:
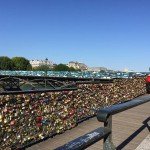
[[[101,139],[103,139],[104,150],[116,150],[116,147],[112,141],[112,115],[147,102],[150,102],[150,96],[144,95],[125,103],[100,109],[97,112],[97,119],[98,121],[104,123],[104,127],[100,127],[90,133],[78,137],[63,146],[56,148],[56,150],[81,150],[89,147]]]

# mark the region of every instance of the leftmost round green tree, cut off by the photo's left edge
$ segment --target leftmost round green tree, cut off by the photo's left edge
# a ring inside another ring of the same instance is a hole
[[[11,59],[7,56],[0,57],[0,70],[12,70],[13,63]]]

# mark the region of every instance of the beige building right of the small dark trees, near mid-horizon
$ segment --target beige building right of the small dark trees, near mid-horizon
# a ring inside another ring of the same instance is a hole
[[[84,63],[80,63],[80,62],[77,62],[77,61],[70,61],[68,64],[67,64],[68,67],[73,67],[74,69],[79,69],[79,70],[87,70],[87,66],[84,64]]]

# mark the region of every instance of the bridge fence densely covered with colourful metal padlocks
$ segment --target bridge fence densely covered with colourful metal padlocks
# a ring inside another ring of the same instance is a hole
[[[75,127],[99,108],[146,93],[144,78],[76,81],[75,85],[77,90],[0,95],[0,147],[29,146]]]

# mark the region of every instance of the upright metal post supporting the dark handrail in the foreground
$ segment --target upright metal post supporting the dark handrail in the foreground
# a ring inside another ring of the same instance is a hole
[[[104,150],[116,150],[112,142],[112,115],[110,115],[104,122],[104,127],[110,129],[111,133],[104,138],[103,149]]]

